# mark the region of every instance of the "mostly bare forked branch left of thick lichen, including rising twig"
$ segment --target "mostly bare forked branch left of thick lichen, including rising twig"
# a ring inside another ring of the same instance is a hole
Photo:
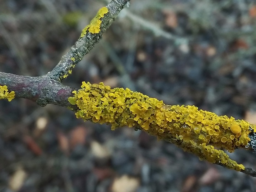
[[[127,2],[129,0],[112,0],[106,7],[102,7],[90,24],[84,28],[75,45],[46,75],[28,77],[0,72],[0,85],[2,86],[0,99],[11,100],[15,94],[17,98],[35,101],[40,106],[56,104],[71,107],[67,98],[71,96],[73,89],[60,82],[69,76],[76,64],[92,50]],[[7,90],[11,92],[7,92]]]

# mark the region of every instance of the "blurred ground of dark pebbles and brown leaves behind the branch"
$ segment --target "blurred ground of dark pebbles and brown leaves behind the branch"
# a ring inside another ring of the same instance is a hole
[[[0,1],[0,71],[51,71],[102,0]],[[130,88],[256,123],[255,0],[131,0],[65,85]],[[231,159],[256,169],[245,150]],[[0,101],[0,192],[254,192],[256,179],[140,130]]]

